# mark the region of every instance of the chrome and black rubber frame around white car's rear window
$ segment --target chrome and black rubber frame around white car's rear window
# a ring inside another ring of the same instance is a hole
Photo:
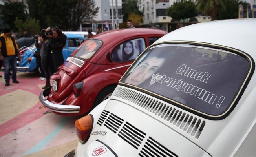
[[[194,45],[194,46],[203,46],[203,47],[209,47],[209,48],[213,48],[213,49],[222,49],[224,51],[228,51],[230,53],[234,53],[236,55],[239,55],[243,58],[245,58],[248,62],[249,62],[249,70],[247,71],[246,75],[245,75],[245,79],[243,80],[243,83],[241,84],[241,86],[238,88],[238,92],[234,95],[234,99],[232,99],[230,106],[227,108],[227,110],[225,110],[224,113],[222,113],[221,115],[209,115],[206,113],[202,113],[200,111],[197,111],[193,108],[189,108],[188,106],[185,106],[175,100],[171,100],[168,99],[166,97],[163,97],[162,95],[158,95],[157,93],[154,93],[152,91],[148,91],[147,89],[144,88],[140,88],[131,84],[126,84],[124,82],[121,82],[121,80],[123,79],[123,77],[130,71],[130,69],[133,67],[133,64],[135,64],[137,62],[137,60],[139,60],[139,58],[141,57],[141,55],[143,55],[148,49],[150,49],[151,47],[154,46],[158,46],[158,45],[164,45],[164,44],[182,44],[182,45]],[[221,120],[221,119],[225,119],[231,112],[232,110],[234,110],[234,108],[236,107],[238,101],[240,100],[241,96],[243,95],[243,92],[245,91],[249,81],[251,80],[251,77],[254,73],[254,69],[255,69],[255,62],[252,59],[252,57],[245,53],[244,51],[241,51],[239,49],[234,49],[232,47],[227,47],[227,46],[221,46],[221,45],[216,45],[216,44],[210,44],[210,43],[204,43],[204,42],[190,42],[190,41],[168,41],[168,42],[159,42],[156,44],[152,44],[151,46],[147,47],[142,53],[141,55],[133,62],[133,64],[130,66],[130,68],[128,68],[128,70],[126,71],[126,73],[124,73],[123,77],[119,80],[119,85],[122,86],[126,86],[132,89],[136,89],[139,90],[141,92],[144,92],[146,94],[149,94],[153,97],[156,97],[158,99],[161,99],[169,104],[172,104],[174,106],[177,106],[179,108],[182,108],[183,110],[189,111],[190,113],[194,113],[195,115],[198,115],[200,117],[206,118],[206,119],[210,119],[210,120]]]

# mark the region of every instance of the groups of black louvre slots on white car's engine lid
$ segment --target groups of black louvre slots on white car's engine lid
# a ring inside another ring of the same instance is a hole
[[[102,111],[97,124],[100,126],[103,124],[109,130],[113,131],[113,133],[121,137],[121,139],[133,146],[133,148],[141,150],[139,153],[139,156],[141,157],[178,157],[178,155],[168,150],[155,139],[150,136],[146,136],[146,133],[109,111]],[[144,144],[142,144],[143,141]]]

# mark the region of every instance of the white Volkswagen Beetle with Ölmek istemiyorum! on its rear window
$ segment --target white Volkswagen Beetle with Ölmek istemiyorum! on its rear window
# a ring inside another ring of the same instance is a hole
[[[256,156],[255,29],[219,20],[157,40],[75,122],[76,156]]]

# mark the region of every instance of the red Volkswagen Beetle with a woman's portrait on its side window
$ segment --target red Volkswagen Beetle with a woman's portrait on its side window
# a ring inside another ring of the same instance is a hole
[[[140,53],[167,34],[159,29],[117,29],[84,41],[52,75],[52,88],[39,96],[55,114],[88,113],[114,91],[119,79]]]

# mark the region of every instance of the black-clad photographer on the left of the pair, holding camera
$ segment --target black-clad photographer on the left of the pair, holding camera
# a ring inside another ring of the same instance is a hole
[[[48,37],[46,37],[46,29],[42,29],[40,35],[36,35],[35,39],[36,39],[35,46],[37,47],[37,50],[39,49],[40,51],[40,58],[41,58],[40,64],[43,69],[41,73],[44,73],[44,75],[42,74],[42,77],[46,78],[46,85],[42,87],[42,89],[46,89],[48,87],[51,87],[51,84],[50,84],[51,73],[49,71],[49,66],[48,66],[49,65],[49,58],[48,58],[49,40],[48,40]],[[40,41],[40,43],[38,43],[38,40]],[[41,79],[41,80],[44,80],[44,79]]]

